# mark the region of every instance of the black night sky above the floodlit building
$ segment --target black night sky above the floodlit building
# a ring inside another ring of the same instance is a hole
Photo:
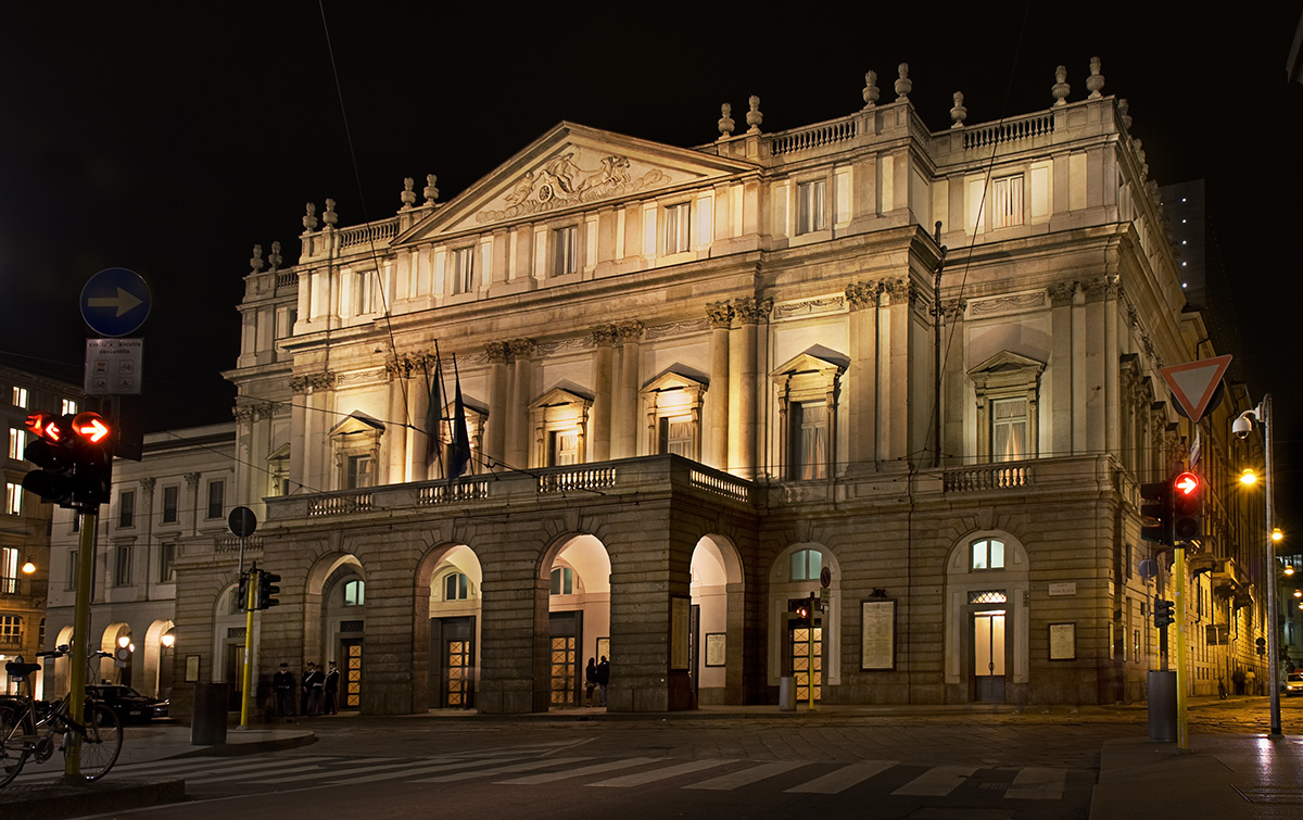
[[[437,173],[448,201],[563,119],[692,146],[718,136],[719,103],[741,123],[758,94],[764,129],[782,130],[856,111],[868,69],[894,99],[902,60],[930,128],[950,124],[956,90],[984,123],[1048,108],[1058,64],[1068,99],[1084,98],[1097,55],[1151,176],[1208,181],[1237,283],[1233,352],[1252,395],[1276,398],[1281,478],[1303,484],[1303,207],[1289,196],[1303,86],[1283,70],[1299,5],[1237,7],[1234,20],[1108,0],[790,4],[809,9],[801,20],[761,4],[444,5],[327,1],[323,23],[317,3],[288,0],[5,4],[0,357],[79,381],[81,287],[129,267],[154,296],[142,425],[225,420],[219,372],[238,352],[250,248],[280,240],[292,262],[309,199],[335,198],[340,224],[356,224],[392,215],[404,176],[420,190]]]

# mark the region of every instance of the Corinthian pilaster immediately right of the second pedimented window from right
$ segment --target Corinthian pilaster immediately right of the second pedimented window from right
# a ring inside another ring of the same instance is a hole
[[[847,373],[850,425],[850,469],[866,471],[877,459],[877,382],[878,382],[878,293],[880,282],[857,282],[847,286],[846,301],[851,308],[851,366]]]

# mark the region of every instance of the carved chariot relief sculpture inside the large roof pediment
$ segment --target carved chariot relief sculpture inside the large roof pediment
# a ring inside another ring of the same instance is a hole
[[[481,211],[476,220],[485,223],[539,214],[580,202],[636,193],[668,181],[670,176],[659,168],[635,177],[627,156],[603,156],[599,167],[588,169],[576,164],[575,151],[566,151],[549,159],[541,168],[526,171],[506,196],[507,207]]]

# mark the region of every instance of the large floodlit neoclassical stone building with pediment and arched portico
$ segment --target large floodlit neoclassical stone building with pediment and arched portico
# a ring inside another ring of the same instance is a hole
[[[726,106],[689,149],[562,123],[448,202],[407,180],[394,218],[309,205],[297,263],[255,248],[227,491],[281,576],[258,678],[334,660],[345,707],[529,712],[606,656],[618,710],[787,677],[1111,703],[1174,583],[1226,637],[1195,690],[1252,662],[1248,399],[1192,425],[1160,378],[1213,353],[1126,100],[1096,64],[1080,99],[1061,73],[1048,110],[968,124],[956,95],[934,132],[899,74],[780,133]],[[1207,566],[1147,579],[1138,488],[1191,460]],[[176,671],[238,686],[229,541],[176,542]]]

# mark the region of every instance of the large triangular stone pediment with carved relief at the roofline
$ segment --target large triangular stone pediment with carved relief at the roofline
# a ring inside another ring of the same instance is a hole
[[[691,189],[754,169],[735,159],[560,123],[397,236],[391,246]]]

